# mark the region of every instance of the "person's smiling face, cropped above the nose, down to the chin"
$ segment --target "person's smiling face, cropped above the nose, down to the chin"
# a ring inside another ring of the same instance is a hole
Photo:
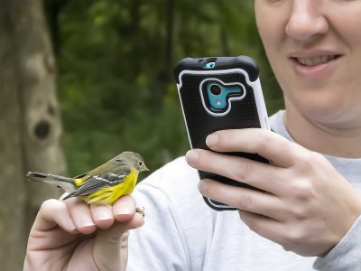
[[[287,111],[361,126],[361,1],[255,0],[255,16]]]

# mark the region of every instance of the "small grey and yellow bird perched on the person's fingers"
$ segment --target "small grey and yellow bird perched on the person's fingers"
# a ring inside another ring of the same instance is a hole
[[[134,190],[138,173],[149,171],[140,154],[124,152],[88,173],[76,177],[64,177],[49,173],[27,173],[29,181],[49,182],[69,192],[63,200],[79,197],[82,201],[112,204],[119,197]],[[143,210],[137,208],[137,212]]]

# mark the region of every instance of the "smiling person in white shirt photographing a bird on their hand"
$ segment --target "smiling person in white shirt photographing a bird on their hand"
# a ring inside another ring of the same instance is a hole
[[[361,270],[359,14],[359,0],[255,0],[285,102],[273,132],[208,135],[217,153],[189,151],[112,207],[45,201],[24,270]],[[264,192],[199,182],[197,169]]]

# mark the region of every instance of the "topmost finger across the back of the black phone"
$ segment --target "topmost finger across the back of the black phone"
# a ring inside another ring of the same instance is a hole
[[[304,150],[301,145],[260,128],[218,131],[208,135],[206,143],[217,152],[260,154],[272,164],[282,167],[297,163]]]

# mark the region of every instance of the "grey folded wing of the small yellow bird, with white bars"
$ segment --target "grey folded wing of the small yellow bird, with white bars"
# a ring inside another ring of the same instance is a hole
[[[130,173],[129,167],[122,167],[119,173],[99,173],[89,176],[80,186],[76,188],[74,192],[71,192],[64,200],[75,197],[84,196],[97,192],[99,189],[106,186],[114,186],[121,182],[124,182],[125,176]]]

